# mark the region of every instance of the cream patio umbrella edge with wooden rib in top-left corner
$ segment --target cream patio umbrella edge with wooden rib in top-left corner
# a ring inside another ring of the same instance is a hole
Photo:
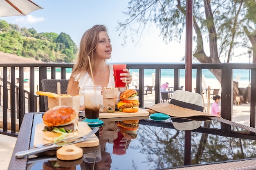
[[[31,0],[0,0],[0,17],[27,15],[37,9],[43,9]]]

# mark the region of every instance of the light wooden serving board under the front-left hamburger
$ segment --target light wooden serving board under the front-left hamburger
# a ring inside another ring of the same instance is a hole
[[[52,141],[47,141],[43,138],[42,130],[44,129],[44,127],[45,127],[45,124],[36,124],[35,135],[34,135],[34,148],[36,145],[52,143]],[[79,137],[86,135],[90,131],[91,131],[91,128],[88,126],[88,124],[86,124],[83,121],[78,122],[77,132]],[[96,136],[96,135],[94,134],[92,136]],[[74,145],[80,148],[94,147],[99,145],[99,139],[93,138],[88,141],[83,141]]]

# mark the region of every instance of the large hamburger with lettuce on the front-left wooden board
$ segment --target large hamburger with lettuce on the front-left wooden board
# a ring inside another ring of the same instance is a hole
[[[74,124],[76,112],[69,106],[56,106],[43,115],[43,138],[47,141],[59,141],[78,136],[77,125]]]

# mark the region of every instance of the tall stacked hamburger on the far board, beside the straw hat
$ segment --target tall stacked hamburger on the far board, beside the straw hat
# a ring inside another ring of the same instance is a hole
[[[137,100],[137,91],[129,89],[120,95],[120,102],[117,103],[119,112],[134,113],[139,110],[139,101]]]

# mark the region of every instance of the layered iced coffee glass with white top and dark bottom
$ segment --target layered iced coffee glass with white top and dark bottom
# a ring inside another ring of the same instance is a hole
[[[85,121],[87,124],[99,123],[99,107],[101,103],[101,86],[85,86],[83,88]]]

